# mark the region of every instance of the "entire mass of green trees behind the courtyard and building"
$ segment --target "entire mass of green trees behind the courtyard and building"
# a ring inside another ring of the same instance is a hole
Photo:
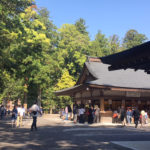
[[[90,41],[84,19],[57,29],[33,0],[1,0],[0,18],[0,103],[21,99],[30,106],[39,100],[45,109],[71,104],[54,91],[75,85],[86,55],[109,55],[147,39],[129,30],[121,46],[117,35],[107,39],[98,31]]]

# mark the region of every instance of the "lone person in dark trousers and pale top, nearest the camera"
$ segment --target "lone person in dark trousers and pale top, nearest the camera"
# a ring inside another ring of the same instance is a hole
[[[38,113],[40,113],[40,108],[36,104],[36,102],[32,105],[32,107],[29,109],[29,111],[31,112],[32,118],[33,118],[33,122],[32,122],[32,125],[31,125],[31,131],[33,131],[33,129],[35,129],[37,131],[36,123],[37,123]]]

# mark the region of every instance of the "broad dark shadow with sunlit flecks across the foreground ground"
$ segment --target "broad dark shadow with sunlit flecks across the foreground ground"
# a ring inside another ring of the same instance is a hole
[[[42,120],[41,120],[42,121]],[[79,128],[79,130],[78,130]],[[89,127],[85,127],[89,128]],[[92,129],[93,127],[90,127]],[[113,127],[107,130],[106,127],[96,127],[100,130],[80,130],[80,127],[61,126],[60,123],[54,125],[39,126],[38,131],[30,131],[29,128],[11,128],[7,121],[0,120],[0,149],[2,150],[129,150],[115,145],[110,141],[129,141],[134,140],[134,134],[140,131],[128,131]],[[94,127],[94,129],[96,129]],[[106,128],[106,129],[105,129]],[[109,127],[111,128],[111,127]],[[108,129],[109,129],[108,128]],[[69,130],[68,130],[69,129]],[[102,130],[101,130],[102,129]],[[105,130],[103,130],[105,129]],[[130,132],[124,136],[123,134]],[[133,133],[133,136],[132,136]],[[87,136],[82,136],[86,135]],[[89,135],[92,136],[89,136]],[[97,134],[93,136],[93,134]],[[122,135],[122,136],[121,136]],[[150,140],[149,136],[145,139],[136,135],[135,140]]]

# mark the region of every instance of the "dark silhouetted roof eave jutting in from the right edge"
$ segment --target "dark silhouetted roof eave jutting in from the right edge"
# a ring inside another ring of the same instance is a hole
[[[150,73],[150,41],[100,59],[103,63],[111,65],[109,70],[132,68]]]

